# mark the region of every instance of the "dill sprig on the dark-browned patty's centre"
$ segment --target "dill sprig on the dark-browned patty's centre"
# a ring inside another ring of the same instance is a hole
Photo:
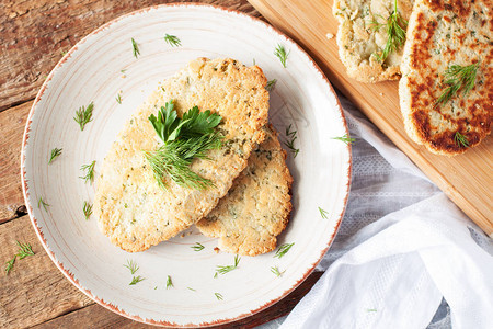
[[[444,92],[435,102],[435,107],[445,105],[450,99],[458,93],[459,90],[463,91],[463,95],[467,95],[472,88],[474,88],[475,75],[478,72],[479,63],[468,66],[452,65],[445,71],[445,78],[443,84],[448,84]]]

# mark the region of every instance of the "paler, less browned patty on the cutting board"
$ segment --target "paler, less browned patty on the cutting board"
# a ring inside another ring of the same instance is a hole
[[[413,0],[399,0],[398,12],[405,21],[411,15]],[[347,75],[360,82],[395,80],[400,77],[402,48],[390,52],[381,63],[387,43],[385,26],[375,29],[372,21],[385,23],[394,10],[394,0],[335,0],[332,9],[339,21],[339,56]],[[404,26],[405,30],[405,26]]]

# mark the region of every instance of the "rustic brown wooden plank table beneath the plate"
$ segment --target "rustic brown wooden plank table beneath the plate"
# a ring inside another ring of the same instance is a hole
[[[24,206],[20,154],[25,120],[36,92],[64,52],[110,20],[165,2],[171,1],[2,0],[0,3],[0,261],[3,265],[16,253],[16,240],[31,243],[35,252],[18,260],[8,275],[3,270],[0,274],[1,328],[147,327],[91,300],[51,262]],[[199,2],[261,18],[246,0]],[[320,275],[312,273],[268,309],[223,327],[251,328],[286,315]]]

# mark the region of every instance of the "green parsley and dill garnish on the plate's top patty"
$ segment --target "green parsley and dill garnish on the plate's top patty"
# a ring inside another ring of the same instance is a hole
[[[207,151],[222,146],[222,135],[215,131],[222,117],[210,111],[199,112],[197,106],[177,117],[173,100],[162,106],[158,117],[151,114],[149,121],[164,143],[152,151],[145,151],[159,185],[167,188],[164,177],[176,184],[195,190],[213,186],[213,182],[192,171],[190,164],[195,158],[207,159]]]

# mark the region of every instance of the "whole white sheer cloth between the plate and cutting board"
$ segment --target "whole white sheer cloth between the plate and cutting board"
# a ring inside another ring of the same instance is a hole
[[[491,328],[491,239],[340,99],[356,141],[347,209],[318,266],[326,272],[287,319],[262,327]]]

